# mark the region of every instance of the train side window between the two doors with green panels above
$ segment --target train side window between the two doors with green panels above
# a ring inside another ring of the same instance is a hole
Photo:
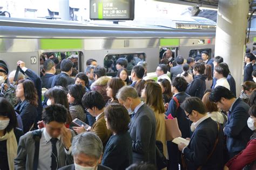
[[[116,76],[117,74],[117,60],[119,58],[125,58],[127,60],[126,69],[131,74],[133,66],[136,66],[140,61],[146,60],[145,53],[132,53],[132,54],[109,54],[104,58],[104,67],[106,68],[107,75]]]

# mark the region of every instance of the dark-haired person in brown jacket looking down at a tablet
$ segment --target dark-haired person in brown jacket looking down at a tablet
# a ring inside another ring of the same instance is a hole
[[[93,117],[96,117],[96,122],[93,123],[91,129],[85,129],[84,126],[73,126],[73,130],[78,134],[85,131],[95,132],[102,140],[103,146],[105,147],[112,132],[106,127],[106,121],[104,119],[105,101],[103,96],[98,91],[88,91],[82,98],[82,104],[83,107],[86,108],[85,111],[89,112]]]

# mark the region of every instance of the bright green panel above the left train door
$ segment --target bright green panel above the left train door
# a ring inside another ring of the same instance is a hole
[[[82,39],[41,39],[40,42],[40,49],[83,48]]]

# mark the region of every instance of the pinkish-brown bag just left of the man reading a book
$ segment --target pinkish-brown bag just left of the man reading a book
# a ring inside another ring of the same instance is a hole
[[[172,117],[171,119],[167,117],[167,119],[165,119],[165,132],[167,141],[181,137],[177,118]]]

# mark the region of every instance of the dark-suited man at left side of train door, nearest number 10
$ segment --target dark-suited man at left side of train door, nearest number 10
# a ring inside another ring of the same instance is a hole
[[[52,60],[46,60],[44,62],[44,70],[45,70],[45,75],[41,77],[42,80],[42,88],[48,88],[48,81],[50,77],[55,76],[56,68],[55,64]]]

